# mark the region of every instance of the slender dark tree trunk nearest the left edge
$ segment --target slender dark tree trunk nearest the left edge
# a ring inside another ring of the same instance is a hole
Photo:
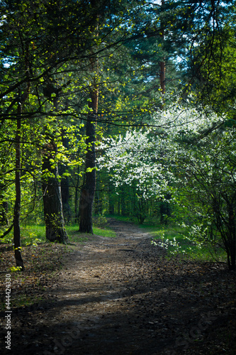
[[[13,216],[13,241],[16,258],[16,266],[21,267],[23,271],[23,259],[21,256],[21,228],[20,228],[20,214],[21,214],[21,104],[18,104],[18,119],[16,128],[16,173],[15,173],[15,188],[16,200],[14,206]]]

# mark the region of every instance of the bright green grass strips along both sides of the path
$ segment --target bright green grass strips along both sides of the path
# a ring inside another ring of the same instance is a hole
[[[172,256],[174,253],[179,253],[179,255],[184,255],[185,257],[191,258],[193,260],[199,261],[221,261],[226,262],[226,253],[223,249],[215,249],[210,244],[202,245],[201,248],[193,241],[186,239],[183,232],[179,226],[174,224],[154,224],[145,221],[144,224],[140,225],[137,223],[137,219],[130,217],[121,216],[107,216],[116,218],[122,222],[132,222],[133,224],[139,226],[141,229],[145,229],[147,233],[152,236],[152,239],[159,245],[167,250],[167,255]],[[105,217],[106,220],[106,217]],[[98,236],[113,238],[116,237],[116,233],[108,228],[106,223],[102,226],[96,226],[97,220],[94,219],[94,234]],[[101,221],[100,221],[101,222]],[[103,221],[102,221],[103,222]],[[79,233],[79,226],[77,224],[66,226],[67,233],[70,242],[84,243],[88,240],[88,234]],[[90,235],[91,236],[91,235]],[[13,240],[13,233],[2,239],[2,242],[11,243]],[[44,225],[27,225],[21,226],[21,244],[22,246],[28,246],[38,243],[45,243],[45,226]]]

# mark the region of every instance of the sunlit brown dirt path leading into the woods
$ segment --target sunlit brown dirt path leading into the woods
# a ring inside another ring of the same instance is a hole
[[[110,226],[116,238],[91,236],[91,241],[70,254],[59,281],[57,301],[64,305],[60,317],[80,332],[72,354],[148,354],[145,344],[143,349],[137,345],[140,337],[145,339],[142,342],[150,337],[141,326],[135,334],[136,319],[142,315],[134,315],[133,310],[140,295],[152,292],[154,279],[147,275],[147,267],[162,251],[131,223],[110,219]],[[145,323],[149,322],[146,315]]]

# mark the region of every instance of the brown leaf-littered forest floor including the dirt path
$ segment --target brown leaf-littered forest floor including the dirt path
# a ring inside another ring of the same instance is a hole
[[[116,238],[24,248],[26,271],[11,272],[9,322],[13,256],[1,246],[1,354],[236,354],[235,273],[167,258],[137,226],[109,223]]]

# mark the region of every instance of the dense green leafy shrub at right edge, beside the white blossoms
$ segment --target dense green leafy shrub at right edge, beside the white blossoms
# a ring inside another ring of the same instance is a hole
[[[183,144],[179,143],[182,147]],[[181,166],[181,188],[176,203],[182,207],[189,234],[225,249],[230,270],[235,270],[235,127],[223,124],[192,146],[176,151]]]

